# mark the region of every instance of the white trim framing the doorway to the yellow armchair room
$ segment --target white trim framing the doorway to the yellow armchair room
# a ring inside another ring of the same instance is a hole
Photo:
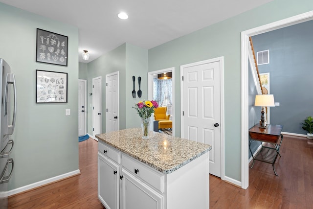
[[[173,129],[173,136],[175,136],[176,133],[176,129],[175,129],[175,68],[167,68],[167,69],[163,69],[163,70],[156,70],[156,71],[152,71],[152,72],[148,72],[148,99],[152,100],[153,99],[153,75],[154,74],[160,74],[163,72],[171,72],[172,71],[172,101],[173,101],[173,107],[174,107],[174,111],[172,111],[172,129]],[[153,126],[152,126],[153,127]]]

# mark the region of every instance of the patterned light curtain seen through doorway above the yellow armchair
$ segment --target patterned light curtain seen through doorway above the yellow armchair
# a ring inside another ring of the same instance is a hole
[[[173,104],[172,78],[153,79],[153,99],[157,101],[159,106]]]

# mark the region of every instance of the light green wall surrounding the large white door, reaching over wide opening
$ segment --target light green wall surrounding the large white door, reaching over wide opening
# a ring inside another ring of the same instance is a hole
[[[241,181],[241,31],[313,10],[312,0],[274,0],[231,19],[205,27],[148,51],[149,70],[224,56],[225,176]],[[180,79],[175,82],[175,101],[180,101]],[[180,105],[175,120],[180,121]],[[175,123],[176,135],[180,123]]]

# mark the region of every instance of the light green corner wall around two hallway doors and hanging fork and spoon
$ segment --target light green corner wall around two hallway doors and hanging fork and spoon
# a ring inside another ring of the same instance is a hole
[[[140,99],[132,97],[133,79],[136,76],[135,88],[138,90],[138,76],[142,77],[142,97],[147,98],[148,50],[131,44],[123,44],[91,61],[87,65],[87,92],[92,92],[92,78],[102,76],[102,132],[106,132],[106,75],[119,71],[119,128],[140,127],[140,119],[132,108]],[[92,96],[88,96],[88,133],[92,135]]]

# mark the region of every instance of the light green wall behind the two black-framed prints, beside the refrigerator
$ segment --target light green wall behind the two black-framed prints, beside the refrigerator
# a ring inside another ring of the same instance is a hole
[[[11,66],[17,82],[11,190],[79,169],[78,28],[3,3],[0,25],[0,57]],[[67,67],[35,62],[36,28],[68,36]],[[68,73],[67,103],[35,103],[36,70]],[[70,116],[65,116],[66,109]]]

